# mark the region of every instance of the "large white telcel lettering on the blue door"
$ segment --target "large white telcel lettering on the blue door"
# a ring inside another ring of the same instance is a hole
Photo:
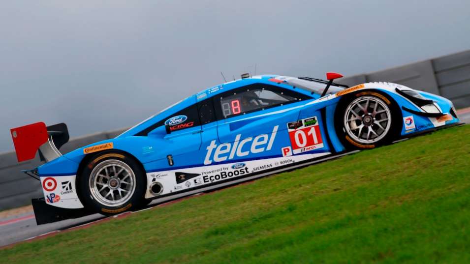
[[[233,143],[216,144],[216,141],[211,141],[211,144],[206,147],[206,157],[204,158],[204,165],[209,165],[212,162],[222,162],[233,159],[234,157],[248,156],[250,153],[260,153],[263,151],[271,150],[273,147],[276,133],[278,132],[278,125],[273,127],[271,134],[263,134],[256,137],[248,137],[240,140],[242,134],[235,136]]]

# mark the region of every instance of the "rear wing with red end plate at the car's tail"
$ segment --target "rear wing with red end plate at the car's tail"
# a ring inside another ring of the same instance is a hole
[[[41,161],[49,162],[62,156],[59,148],[69,140],[65,123],[46,127],[37,122],[10,129],[18,162],[33,159],[39,150]]]

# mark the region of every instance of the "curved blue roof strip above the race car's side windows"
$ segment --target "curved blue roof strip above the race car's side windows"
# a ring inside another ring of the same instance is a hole
[[[144,121],[136,124],[135,126],[129,128],[128,130],[126,130],[125,132],[123,132],[121,135],[119,135],[117,137],[119,138],[119,137],[133,136],[137,132],[151,126],[156,121],[158,121],[162,118],[168,117],[169,115],[177,113],[178,111],[183,110],[186,107],[197,103],[198,101],[205,100],[207,98],[210,98],[214,95],[225,92],[227,90],[231,90],[231,89],[234,89],[234,88],[239,88],[239,87],[242,87],[242,86],[247,86],[247,85],[254,84],[254,83],[259,83],[260,81],[268,81],[269,79],[278,79],[278,78],[280,80],[286,80],[286,79],[293,78],[293,77],[287,77],[287,76],[282,76],[282,75],[274,75],[274,74],[256,75],[256,76],[251,76],[251,77],[248,77],[248,78],[233,80],[233,81],[230,81],[230,82],[219,84],[219,85],[211,87],[211,88],[207,88],[205,90],[202,90],[202,91],[200,91],[196,94],[190,95],[187,98],[172,104],[171,106],[169,106],[169,107],[161,110],[160,112],[158,112],[156,115],[153,115],[153,116],[145,119]],[[304,92],[306,94],[310,94],[310,92],[307,91],[307,90],[304,90]]]

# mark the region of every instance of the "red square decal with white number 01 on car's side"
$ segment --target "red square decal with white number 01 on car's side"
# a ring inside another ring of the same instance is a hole
[[[298,154],[323,147],[316,117],[287,123],[292,153]]]

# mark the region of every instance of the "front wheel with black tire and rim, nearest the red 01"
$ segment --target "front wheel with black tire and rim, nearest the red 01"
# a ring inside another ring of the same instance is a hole
[[[335,111],[335,129],[346,149],[389,144],[402,130],[401,112],[389,96],[361,91],[342,98]]]

